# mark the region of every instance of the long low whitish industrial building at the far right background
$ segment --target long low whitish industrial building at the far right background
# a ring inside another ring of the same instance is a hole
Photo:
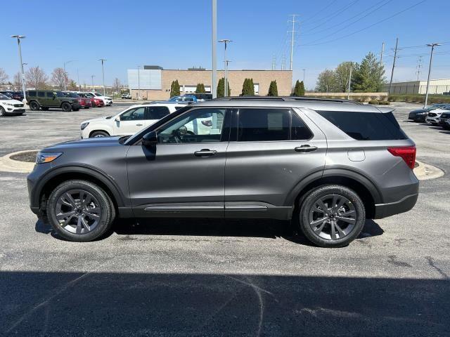
[[[389,83],[385,86],[385,91],[389,91]],[[392,83],[390,93],[402,95],[425,94],[427,91],[427,81],[407,81]],[[450,79],[430,79],[430,95],[450,94]]]

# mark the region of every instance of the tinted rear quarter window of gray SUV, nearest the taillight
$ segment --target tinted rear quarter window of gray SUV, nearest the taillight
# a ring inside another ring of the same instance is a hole
[[[407,139],[392,112],[317,111],[356,140]]]

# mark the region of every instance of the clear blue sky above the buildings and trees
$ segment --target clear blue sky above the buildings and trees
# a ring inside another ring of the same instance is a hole
[[[39,65],[51,74],[63,62],[75,60],[67,71],[77,81],[78,69],[82,84],[91,83],[91,74],[101,83],[98,58],[108,59],[106,84],[112,84],[115,77],[125,83],[127,69],[136,65],[211,67],[210,0],[13,2],[14,6],[8,5],[10,14],[2,15],[0,36],[0,67],[10,79],[19,63],[12,34],[27,36],[23,40],[27,67]],[[290,36],[286,31],[292,30],[288,15],[297,14],[300,24],[295,30],[300,32],[295,33],[294,77],[302,79],[302,69],[306,69],[307,88],[315,85],[317,74],[327,67],[345,60],[360,61],[369,51],[379,54],[383,41],[389,77],[396,37],[401,47],[446,42],[437,48],[432,78],[449,78],[450,1],[426,0],[389,18],[419,2],[217,0],[217,38],[233,40],[228,57],[231,69],[271,69],[274,55],[279,68],[283,50],[288,66]],[[223,46],[217,51],[220,67]],[[423,55],[423,70],[428,68],[429,48],[406,48],[399,55],[394,80],[416,79],[419,55]],[[425,79],[426,72],[420,77]]]

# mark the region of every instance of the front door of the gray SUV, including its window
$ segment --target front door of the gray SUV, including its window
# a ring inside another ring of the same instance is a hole
[[[193,108],[158,128],[158,145],[127,153],[136,216],[224,216],[226,110]]]

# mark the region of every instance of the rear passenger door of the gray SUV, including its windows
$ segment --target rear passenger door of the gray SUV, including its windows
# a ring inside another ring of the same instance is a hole
[[[325,135],[300,110],[284,107],[236,108],[231,125],[225,216],[288,218],[288,196],[323,171]]]

